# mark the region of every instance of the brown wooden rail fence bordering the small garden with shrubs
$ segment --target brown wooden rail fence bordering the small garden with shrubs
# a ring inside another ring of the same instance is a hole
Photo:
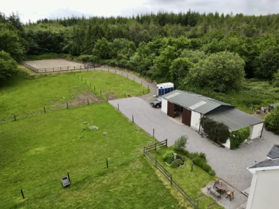
[[[143,153],[148,160],[158,169],[164,177],[180,192],[180,194],[193,206],[194,209],[198,209],[199,202],[193,201],[185,192],[181,189],[181,187],[173,181],[172,175],[151,155],[149,151],[156,150],[158,147],[167,147],[167,139],[164,141],[156,142],[155,144],[151,144],[143,147]]]

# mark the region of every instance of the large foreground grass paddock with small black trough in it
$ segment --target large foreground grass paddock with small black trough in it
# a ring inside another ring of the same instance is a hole
[[[2,122],[1,208],[183,208],[142,154],[151,140],[108,103]]]

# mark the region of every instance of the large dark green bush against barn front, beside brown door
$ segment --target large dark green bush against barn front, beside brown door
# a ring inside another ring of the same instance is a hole
[[[226,143],[230,136],[229,127],[227,125],[211,118],[203,116],[201,118],[201,126],[203,131],[208,135],[208,138],[212,141],[223,144]]]

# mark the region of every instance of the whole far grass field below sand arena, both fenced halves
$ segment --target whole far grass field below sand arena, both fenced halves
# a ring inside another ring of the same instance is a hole
[[[81,77],[84,77],[83,81]],[[90,82],[93,82],[92,88]],[[12,120],[13,114],[19,118],[26,114],[44,112],[44,106],[46,111],[66,107],[66,103],[72,103],[80,95],[85,95],[87,100],[86,95],[94,93],[106,100],[107,94],[113,98],[124,98],[124,92],[138,96],[143,89],[147,92],[140,84],[109,72],[82,72],[79,73],[79,78],[77,73],[61,73],[59,76],[31,80],[20,76],[0,88],[0,120]]]

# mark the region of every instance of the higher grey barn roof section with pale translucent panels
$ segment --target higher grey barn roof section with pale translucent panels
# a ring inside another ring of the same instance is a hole
[[[218,106],[233,106],[192,92],[175,90],[162,96],[162,98],[183,107],[205,114]]]

